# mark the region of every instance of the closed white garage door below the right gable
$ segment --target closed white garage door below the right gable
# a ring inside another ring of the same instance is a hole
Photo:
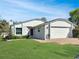
[[[50,39],[67,38],[70,33],[70,28],[50,28]]]

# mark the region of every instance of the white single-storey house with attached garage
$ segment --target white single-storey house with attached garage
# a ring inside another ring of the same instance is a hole
[[[58,18],[47,22],[46,20],[34,19],[13,24],[12,34],[15,36],[30,35],[38,39],[71,38],[74,24],[68,20]]]

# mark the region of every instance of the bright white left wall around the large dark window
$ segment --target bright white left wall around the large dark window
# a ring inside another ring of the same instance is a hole
[[[29,22],[24,22],[24,23],[20,23],[20,24],[15,24],[13,26],[11,26],[12,29],[12,34],[15,36],[25,36],[29,34],[29,28],[28,27],[33,27],[33,26],[37,26],[39,24],[44,23],[44,21],[41,20],[32,20]],[[16,34],[16,28],[22,28],[22,35]]]

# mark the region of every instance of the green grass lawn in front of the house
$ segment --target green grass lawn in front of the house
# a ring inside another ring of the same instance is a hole
[[[38,43],[26,39],[0,41],[0,59],[74,59],[79,46]]]

